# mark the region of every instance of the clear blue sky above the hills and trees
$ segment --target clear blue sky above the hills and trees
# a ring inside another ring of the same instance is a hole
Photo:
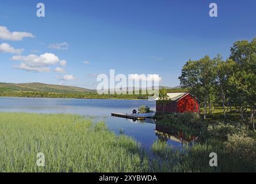
[[[39,2],[45,17],[36,16]],[[218,17],[209,17],[211,2],[218,5]],[[31,33],[17,41],[0,31],[0,82],[93,89],[97,74],[114,69],[116,74],[159,74],[160,85],[177,86],[189,59],[217,53],[226,59],[232,43],[256,36],[256,1],[1,0],[0,26],[10,34]],[[29,55],[49,56],[52,63],[22,66]]]

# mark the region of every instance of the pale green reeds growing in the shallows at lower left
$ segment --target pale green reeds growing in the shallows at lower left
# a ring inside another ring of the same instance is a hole
[[[140,145],[103,122],[66,114],[0,113],[0,172],[143,172]],[[43,152],[45,167],[36,165]]]

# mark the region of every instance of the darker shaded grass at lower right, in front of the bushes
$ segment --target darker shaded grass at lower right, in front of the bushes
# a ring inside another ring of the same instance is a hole
[[[157,140],[151,147],[158,158],[152,160],[152,168],[158,172],[255,172],[256,167],[247,159],[224,150],[221,143],[208,140],[192,146],[184,144],[181,150],[176,150],[165,141]],[[217,167],[209,166],[209,154],[217,154]],[[253,153],[251,153],[253,154]],[[251,155],[253,156],[253,155]]]

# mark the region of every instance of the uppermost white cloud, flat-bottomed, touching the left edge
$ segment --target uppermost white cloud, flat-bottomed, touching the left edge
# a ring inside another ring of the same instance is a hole
[[[0,26],[0,39],[21,41],[24,37],[34,38],[35,36],[28,32],[10,32],[5,26]]]

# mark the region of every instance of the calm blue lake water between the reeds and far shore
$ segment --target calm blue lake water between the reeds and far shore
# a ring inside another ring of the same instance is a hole
[[[155,101],[121,99],[72,99],[72,98],[18,98],[0,97],[0,112],[68,113],[95,116],[94,121],[105,121],[108,128],[133,137],[146,149],[159,139],[154,120],[133,121],[112,117],[111,113],[132,113],[140,105],[155,110]],[[167,139],[167,143],[179,147],[181,143]]]

